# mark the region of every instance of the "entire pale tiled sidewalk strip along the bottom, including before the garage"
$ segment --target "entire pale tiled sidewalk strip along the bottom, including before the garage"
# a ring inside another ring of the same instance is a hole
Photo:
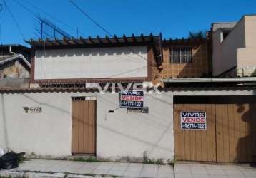
[[[170,165],[31,159],[11,171],[33,173],[26,174],[29,177],[64,177],[69,174],[69,177],[97,175],[105,178],[107,176],[131,178],[256,178],[256,168],[249,164],[177,163],[173,169]],[[3,172],[0,171],[0,174]]]

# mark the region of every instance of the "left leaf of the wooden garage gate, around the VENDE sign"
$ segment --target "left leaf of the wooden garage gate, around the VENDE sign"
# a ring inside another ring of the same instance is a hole
[[[182,130],[180,112],[206,112],[207,130]],[[174,152],[178,160],[216,162],[215,105],[174,104]]]

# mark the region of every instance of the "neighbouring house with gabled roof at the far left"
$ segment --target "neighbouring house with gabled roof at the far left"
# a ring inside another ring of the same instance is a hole
[[[0,46],[0,86],[29,87],[30,48],[21,45]]]

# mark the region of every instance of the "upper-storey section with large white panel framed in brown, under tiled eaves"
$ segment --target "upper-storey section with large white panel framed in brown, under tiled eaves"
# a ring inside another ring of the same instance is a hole
[[[161,35],[29,41],[31,83],[150,82]]]

